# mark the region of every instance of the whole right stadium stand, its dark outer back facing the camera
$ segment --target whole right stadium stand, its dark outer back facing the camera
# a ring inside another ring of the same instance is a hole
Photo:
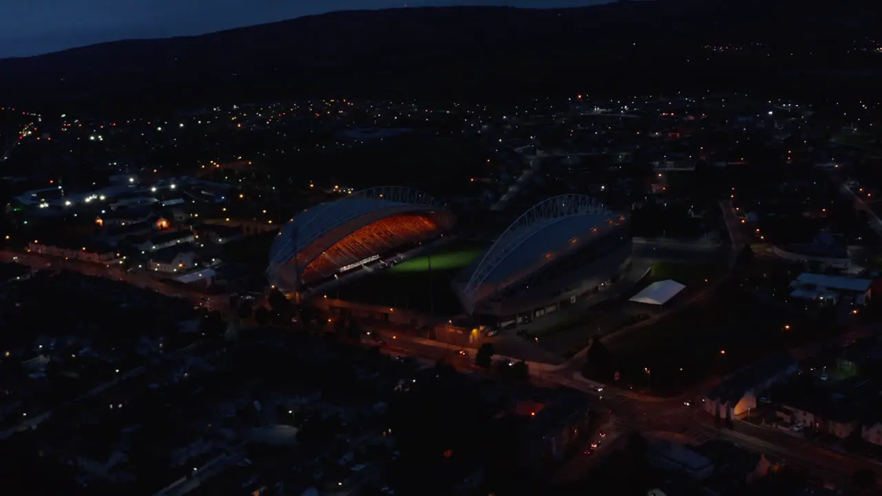
[[[626,214],[561,195],[512,222],[453,289],[469,314],[506,326],[599,293],[630,270],[631,255]]]

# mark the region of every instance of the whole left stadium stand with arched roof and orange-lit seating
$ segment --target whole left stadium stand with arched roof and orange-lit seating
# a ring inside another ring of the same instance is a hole
[[[297,214],[270,248],[269,282],[288,293],[333,279],[450,232],[454,216],[430,195],[380,186]]]

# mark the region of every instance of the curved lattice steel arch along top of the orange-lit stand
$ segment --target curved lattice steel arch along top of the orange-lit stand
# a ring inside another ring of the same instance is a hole
[[[369,199],[376,201],[358,202],[358,199]],[[378,202],[388,202],[383,206]],[[326,233],[337,229],[353,219],[370,214],[384,207],[425,207],[444,209],[446,207],[437,199],[428,193],[422,192],[415,188],[407,186],[375,186],[358,192],[354,192],[348,196],[335,201],[329,201],[324,204],[307,209],[304,214],[308,218],[302,225],[297,225],[298,220],[295,219],[288,222],[280,231],[280,235],[284,237],[282,244],[278,249],[273,246],[270,254],[270,265],[266,269],[266,275],[270,282],[278,285],[280,275],[275,267],[285,264],[291,259],[295,259],[297,253],[310,246],[319,237]],[[342,239],[342,238],[340,238]],[[339,239],[336,241],[340,241]],[[336,242],[335,241],[335,242]],[[332,244],[333,245],[333,244]],[[305,265],[309,265],[308,263]],[[304,265],[304,267],[305,267]],[[301,267],[297,267],[298,270]]]

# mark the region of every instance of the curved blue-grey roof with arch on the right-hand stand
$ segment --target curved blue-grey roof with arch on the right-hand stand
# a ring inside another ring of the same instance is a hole
[[[504,289],[528,275],[525,267],[534,265],[543,254],[619,217],[585,195],[564,194],[543,200],[512,222],[484,253],[459,291],[462,304],[467,312],[474,312],[482,299],[482,287],[490,285],[494,292]]]

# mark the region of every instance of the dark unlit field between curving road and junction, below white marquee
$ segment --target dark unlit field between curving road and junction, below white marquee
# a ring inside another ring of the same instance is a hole
[[[761,304],[726,282],[713,297],[658,324],[620,339],[613,334],[609,350],[624,383],[649,387],[651,380],[654,393],[675,394],[820,337],[806,314]]]

